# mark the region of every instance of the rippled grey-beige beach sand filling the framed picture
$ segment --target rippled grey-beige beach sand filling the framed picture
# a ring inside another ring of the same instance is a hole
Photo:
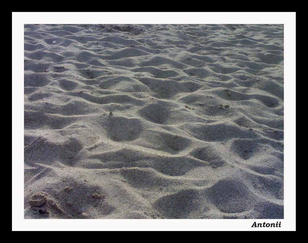
[[[24,219],[283,218],[283,24],[24,25]]]

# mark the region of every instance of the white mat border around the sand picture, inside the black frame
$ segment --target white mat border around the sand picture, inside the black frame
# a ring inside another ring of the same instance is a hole
[[[13,231],[264,231],[254,221],[278,220],[25,220],[23,219],[24,24],[284,24],[285,219],[295,230],[295,12],[12,12],[12,230]],[[42,224],[43,222],[43,224]],[[83,224],[86,222],[86,224]]]

